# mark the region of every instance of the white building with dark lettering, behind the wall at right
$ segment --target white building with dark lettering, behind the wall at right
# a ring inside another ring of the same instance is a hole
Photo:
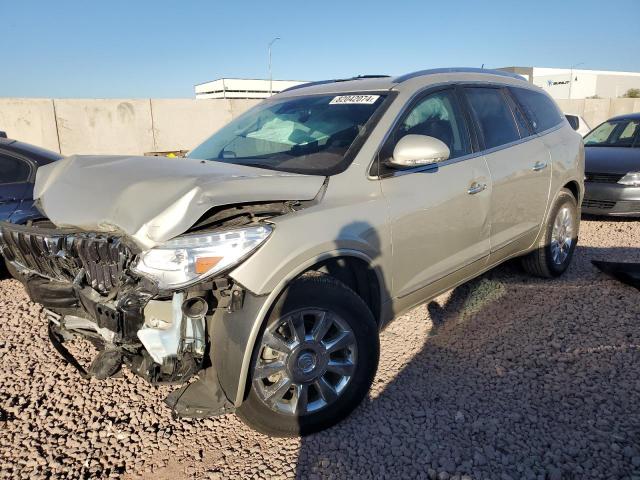
[[[612,72],[571,68],[504,67],[546,90],[553,98],[618,98],[640,88],[640,72]]]

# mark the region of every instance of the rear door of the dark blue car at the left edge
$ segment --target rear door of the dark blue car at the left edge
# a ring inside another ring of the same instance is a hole
[[[31,197],[32,166],[25,159],[0,151],[0,221],[6,221],[20,203]]]

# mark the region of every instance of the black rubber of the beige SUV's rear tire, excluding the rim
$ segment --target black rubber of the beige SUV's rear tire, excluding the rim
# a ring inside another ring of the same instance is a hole
[[[556,263],[553,261],[551,237],[556,217],[564,207],[567,207],[570,211],[574,228],[572,232],[571,247],[568,250],[567,257],[563,261]],[[578,215],[577,201],[571,191],[563,188],[560,190],[558,197],[551,207],[551,211],[549,212],[549,216],[543,227],[542,234],[540,235],[538,246],[534,251],[522,257],[522,266],[525,271],[531,275],[542,278],[554,278],[562,275],[569,267],[571,259],[573,258],[573,252],[578,244],[579,228],[580,217]]]

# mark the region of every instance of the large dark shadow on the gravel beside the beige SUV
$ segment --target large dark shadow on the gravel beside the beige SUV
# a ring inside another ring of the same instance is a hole
[[[640,475],[639,297],[592,258],[640,250],[579,247],[556,280],[511,262],[398,320],[426,322],[424,344],[351,417],[302,439],[297,477]]]

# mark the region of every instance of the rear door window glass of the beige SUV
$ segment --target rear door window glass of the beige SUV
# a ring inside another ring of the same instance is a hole
[[[494,148],[520,139],[513,112],[501,90],[468,87],[464,89],[480,125],[484,148]]]

